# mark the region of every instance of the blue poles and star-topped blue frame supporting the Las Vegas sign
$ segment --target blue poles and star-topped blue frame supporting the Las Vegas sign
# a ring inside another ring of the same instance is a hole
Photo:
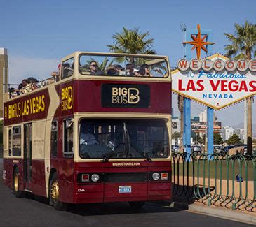
[[[201,34],[203,37],[201,38]],[[196,35],[196,36],[195,36]],[[183,44],[190,44],[194,45],[191,50],[187,50],[188,45],[185,46],[185,52],[187,54],[186,59],[191,60],[191,51],[196,49],[197,58],[200,59],[201,57],[201,49],[204,50],[207,55],[213,54],[212,51],[212,44],[208,42],[211,37],[211,30],[210,29],[203,29],[201,30],[200,25],[197,25],[197,29],[188,29],[186,33],[186,40],[190,38],[193,41],[187,41]],[[205,45],[208,45],[207,49]],[[184,147],[187,153],[191,154],[191,99],[184,98]],[[213,154],[213,108],[207,108],[207,151],[208,154]]]

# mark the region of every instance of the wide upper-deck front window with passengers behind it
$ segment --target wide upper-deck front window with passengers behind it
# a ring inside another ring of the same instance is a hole
[[[79,57],[79,71],[82,75],[168,77],[166,59],[160,57],[81,54]]]

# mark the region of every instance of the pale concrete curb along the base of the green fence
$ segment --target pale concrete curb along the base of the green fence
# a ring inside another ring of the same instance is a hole
[[[256,224],[255,214],[243,214],[241,212],[227,210],[220,207],[207,207],[203,205],[188,204],[175,201],[158,201],[151,203],[163,205],[164,207],[174,208],[177,210],[187,210],[187,212],[194,212],[212,217],[218,217],[221,219],[243,222],[246,224]]]

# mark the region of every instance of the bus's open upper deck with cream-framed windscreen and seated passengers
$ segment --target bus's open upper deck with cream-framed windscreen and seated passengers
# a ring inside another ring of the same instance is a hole
[[[166,56],[74,52],[62,59],[59,71],[52,75],[52,78],[29,82],[20,89],[9,91],[8,98],[74,78],[170,82],[170,66]]]

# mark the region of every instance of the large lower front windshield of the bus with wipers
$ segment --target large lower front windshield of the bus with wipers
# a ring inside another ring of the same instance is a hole
[[[167,158],[166,122],[159,119],[82,119],[79,155],[82,159]]]

